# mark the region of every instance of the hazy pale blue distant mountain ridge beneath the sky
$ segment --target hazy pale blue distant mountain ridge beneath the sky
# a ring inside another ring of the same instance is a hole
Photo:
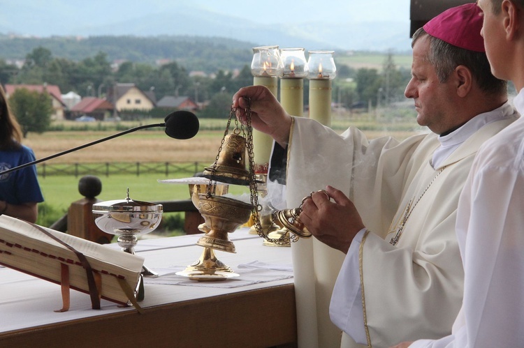
[[[132,31],[130,31],[132,28]],[[307,50],[410,50],[409,27],[401,22],[354,24],[262,24],[217,15],[148,15],[96,28],[78,28],[89,35],[189,35],[218,36],[280,47],[305,47]],[[384,35],[384,33],[387,33]]]

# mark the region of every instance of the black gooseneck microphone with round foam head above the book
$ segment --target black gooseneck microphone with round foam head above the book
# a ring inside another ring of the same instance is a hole
[[[166,116],[166,118],[163,121],[164,123],[156,123],[156,124],[150,124],[150,125],[145,125],[145,126],[138,126],[135,128],[124,130],[121,133],[110,135],[109,137],[95,140],[94,142],[80,145],[73,149],[55,153],[54,155],[51,155],[45,158],[41,158],[39,160],[34,160],[32,162],[27,162],[27,163],[24,163],[23,165],[19,165],[17,167],[6,169],[3,172],[0,172],[0,176],[3,174],[9,174],[10,172],[15,172],[17,170],[23,169],[25,167],[29,167],[31,165],[36,165],[37,163],[43,162],[45,160],[50,160],[52,158],[66,155],[67,153],[70,153],[73,151],[84,149],[87,146],[92,146],[95,144],[99,144],[101,142],[105,142],[106,140],[109,140],[115,137],[119,137],[121,135],[125,135],[127,133],[131,133],[136,130],[140,130],[144,128],[166,127],[165,132],[166,132],[166,135],[168,135],[169,137],[172,137],[175,139],[189,139],[189,138],[194,137],[196,133],[198,133],[198,128],[200,127],[200,123],[198,122],[198,117],[196,117],[196,115],[193,114],[192,112],[185,111],[185,110],[171,112],[170,114],[168,114],[168,116]]]

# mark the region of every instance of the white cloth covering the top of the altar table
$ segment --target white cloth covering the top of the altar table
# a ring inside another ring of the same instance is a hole
[[[201,236],[202,234],[194,234],[138,241],[135,248],[136,254],[145,257],[145,265],[153,270],[171,265],[189,265],[196,261],[202,253],[203,248],[196,245],[196,241]],[[243,270],[252,271],[249,267],[239,268],[239,265],[263,262],[269,264],[265,273],[270,274],[273,271],[275,278],[279,280],[252,282],[249,285],[231,288],[161,285],[152,284],[146,280],[145,299],[140,302],[140,306],[147,308],[165,303],[293,283],[292,276],[286,278],[277,276],[282,275],[284,272],[282,269],[291,266],[291,248],[264,246],[263,240],[257,235],[249,234],[247,228],[238,229],[229,234],[229,238],[235,244],[236,253],[217,251],[215,255],[221,262],[231,266],[233,271],[240,274],[235,279],[242,280]],[[117,248],[116,245],[108,245],[108,247]],[[282,269],[271,270],[270,268]],[[0,268],[0,333],[135,310],[133,307],[119,308],[117,304],[105,300],[101,301],[101,310],[92,310],[89,295],[75,290],[71,290],[71,308],[67,312],[54,312],[61,306],[59,285],[10,268]]]

